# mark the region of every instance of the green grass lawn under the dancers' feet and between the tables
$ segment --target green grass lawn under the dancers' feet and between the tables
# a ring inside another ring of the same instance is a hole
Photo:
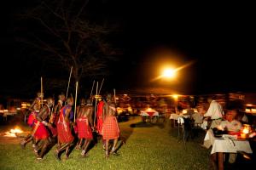
[[[168,120],[152,126],[142,123],[140,117],[131,117],[119,123],[121,136],[126,140],[118,151],[119,156],[104,157],[101,142],[89,151],[86,158],[80,150],[73,150],[66,161],[57,161],[55,146],[36,161],[32,144],[21,150],[19,144],[0,143],[0,169],[209,169],[210,151],[200,146],[202,138],[189,140],[186,147],[177,143],[177,129],[170,128]],[[3,137],[2,137],[3,138]],[[64,154],[62,154],[63,156]]]

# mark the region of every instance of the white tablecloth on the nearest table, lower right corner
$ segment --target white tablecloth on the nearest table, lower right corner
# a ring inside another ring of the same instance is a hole
[[[212,129],[207,131],[206,137],[204,139],[204,145],[207,148],[210,148],[212,145],[211,154],[216,152],[236,153],[237,151],[253,153],[250,143],[247,140],[215,138]]]

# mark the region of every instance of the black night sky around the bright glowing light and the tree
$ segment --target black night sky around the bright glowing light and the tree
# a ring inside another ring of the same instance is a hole
[[[111,41],[123,54],[109,65],[110,74],[104,77],[106,89],[162,87],[184,94],[256,91],[252,5],[91,2],[88,8],[95,20],[106,17],[119,26],[119,33]],[[24,94],[23,88],[30,88],[27,79],[39,81],[39,75],[47,72],[40,65],[30,69],[34,60],[26,59],[26,53],[20,53],[20,45],[15,42],[15,14],[28,4],[11,2],[1,9],[0,94]],[[178,67],[192,61],[193,65],[178,72],[176,81],[150,82],[157,77],[160,63],[175,63]]]

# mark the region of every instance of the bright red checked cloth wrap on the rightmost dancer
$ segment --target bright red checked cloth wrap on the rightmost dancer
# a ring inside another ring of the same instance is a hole
[[[102,127],[103,139],[119,138],[119,124],[115,116],[108,116]]]

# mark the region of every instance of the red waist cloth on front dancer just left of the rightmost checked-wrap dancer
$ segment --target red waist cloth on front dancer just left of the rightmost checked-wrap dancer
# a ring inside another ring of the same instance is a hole
[[[79,139],[92,139],[92,132],[87,117],[79,117],[77,119],[77,127]]]

